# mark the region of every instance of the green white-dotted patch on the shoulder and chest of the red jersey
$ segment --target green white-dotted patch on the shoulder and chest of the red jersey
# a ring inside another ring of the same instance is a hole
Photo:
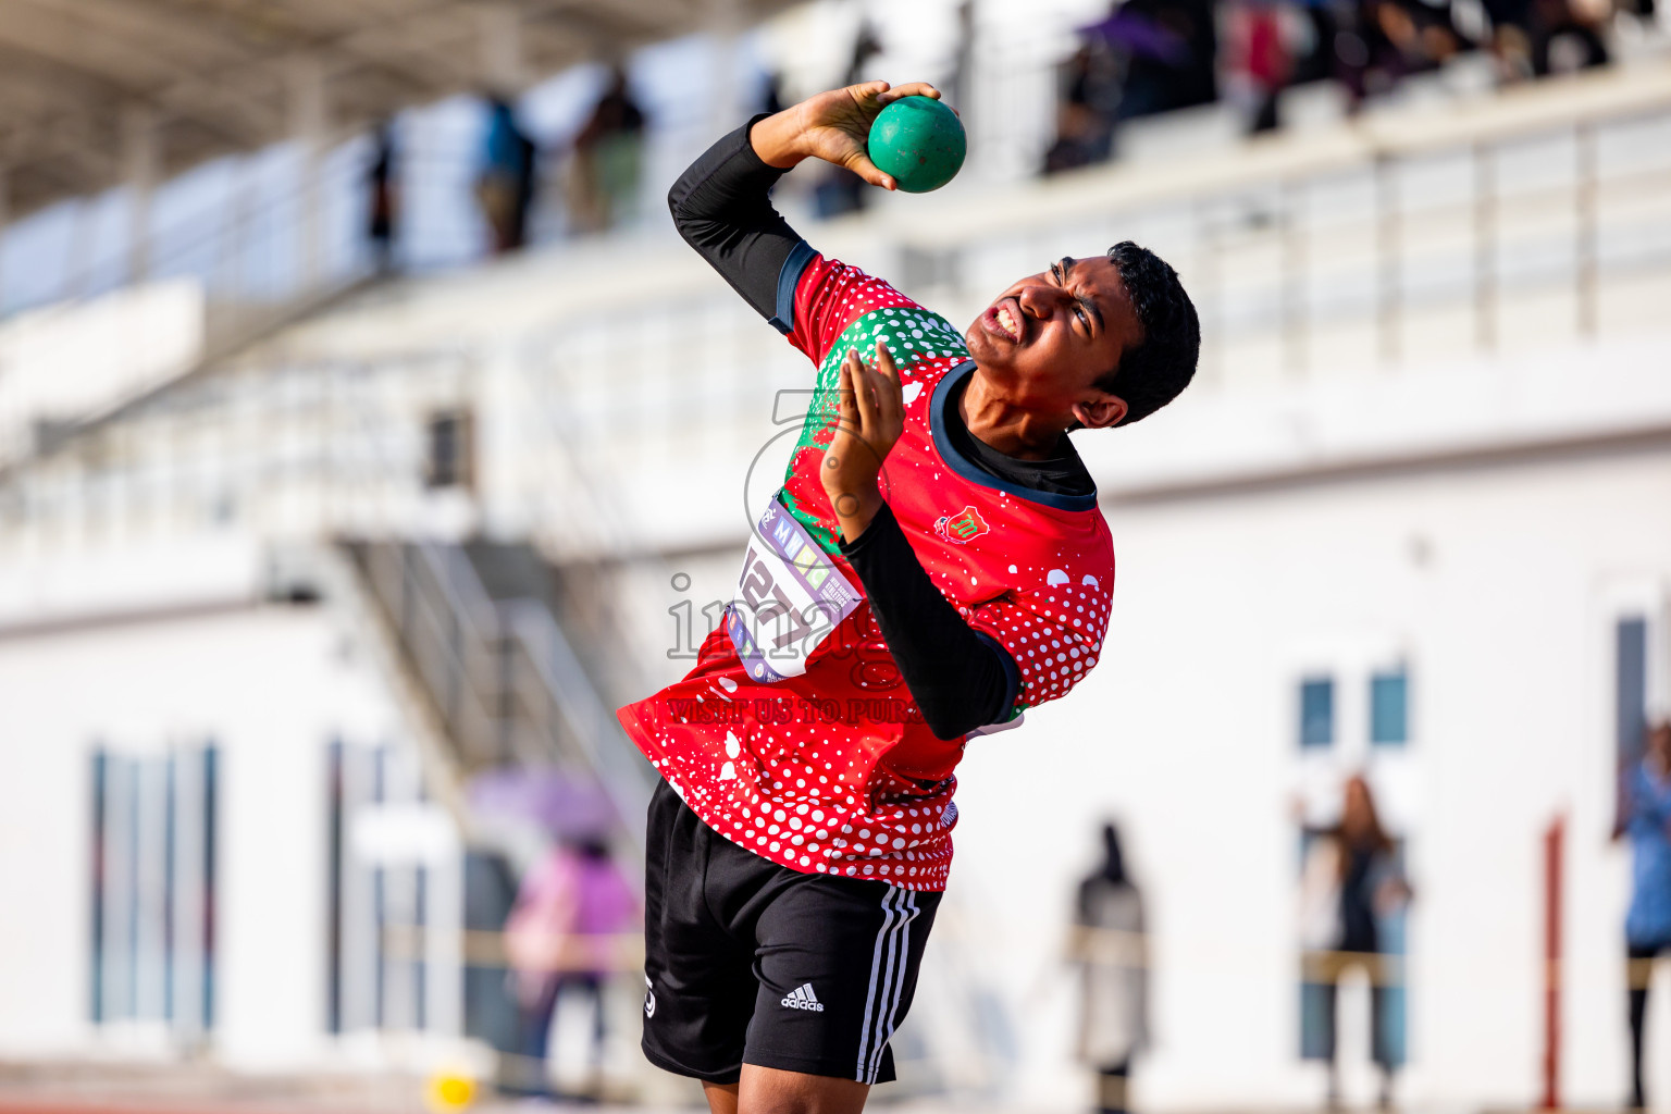
[[[907,367],[914,367],[924,361],[944,357],[966,359],[969,356],[969,349],[962,342],[962,334],[949,321],[921,306],[872,309],[854,319],[836,337],[830,351],[824,354],[824,362],[819,364],[819,374],[812,384],[812,403],[807,406],[807,416],[800,428],[800,439],[795,441],[795,451],[789,456],[789,469],[784,476],[785,483],[795,474],[795,463],[802,453],[812,451],[822,456],[834,436],[836,423],[841,416],[841,364],[847,359],[847,352],[857,349],[864,362],[871,364],[876,361],[876,344],[879,341],[887,344],[887,351],[894,357],[894,367],[901,374]],[[836,531],[820,523],[815,514],[799,506],[787,489],[779,498],[789,508],[789,513],[807,528],[807,533],[824,546],[825,553],[841,553]]]

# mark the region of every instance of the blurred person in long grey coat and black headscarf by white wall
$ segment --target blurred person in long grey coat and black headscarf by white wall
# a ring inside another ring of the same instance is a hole
[[[1131,1056],[1148,1041],[1143,895],[1120,832],[1103,825],[1103,865],[1079,884],[1069,957],[1079,964],[1079,1059],[1096,1071],[1098,1111],[1123,1114]]]

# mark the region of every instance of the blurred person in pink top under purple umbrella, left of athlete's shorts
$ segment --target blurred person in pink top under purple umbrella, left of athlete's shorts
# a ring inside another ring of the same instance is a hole
[[[521,1010],[526,1092],[548,1089],[543,1062],[551,1017],[568,990],[592,997],[592,1071],[602,1069],[603,984],[622,967],[620,934],[637,922],[638,899],[602,842],[555,847],[523,875],[505,922],[505,954]]]

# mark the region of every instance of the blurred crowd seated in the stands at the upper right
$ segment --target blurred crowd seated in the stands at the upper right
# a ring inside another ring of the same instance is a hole
[[[1357,112],[1464,53],[1499,84],[1609,62],[1609,25],[1656,0],[1125,0],[1079,28],[1059,68],[1053,174],[1115,155],[1120,122],[1218,100],[1248,132],[1282,125],[1282,92],[1332,80]]]

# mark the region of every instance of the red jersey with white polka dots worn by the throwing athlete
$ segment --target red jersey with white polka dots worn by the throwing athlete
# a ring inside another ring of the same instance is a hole
[[[882,468],[894,518],[941,593],[1014,658],[1011,720],[1064,696],[1101,655],[1115,586],[1095,496],[1013,489],[936,434],[936,406],[973,364],[957,329],[892,286],[814,256],[794,307],[789,339],[819,374],[782,506],[862,593],[817,469],[841,361],[854,347],[871,359],[886,342],[906,399],[906,431]],[[770,683],[750,675],[722,623],[688,676],[622,708],[620,720],[685,803],[754,853],[804,873],[946,887],[954,770],[979,733],[934,737],[866,603],[824,635],[804,673]]]

